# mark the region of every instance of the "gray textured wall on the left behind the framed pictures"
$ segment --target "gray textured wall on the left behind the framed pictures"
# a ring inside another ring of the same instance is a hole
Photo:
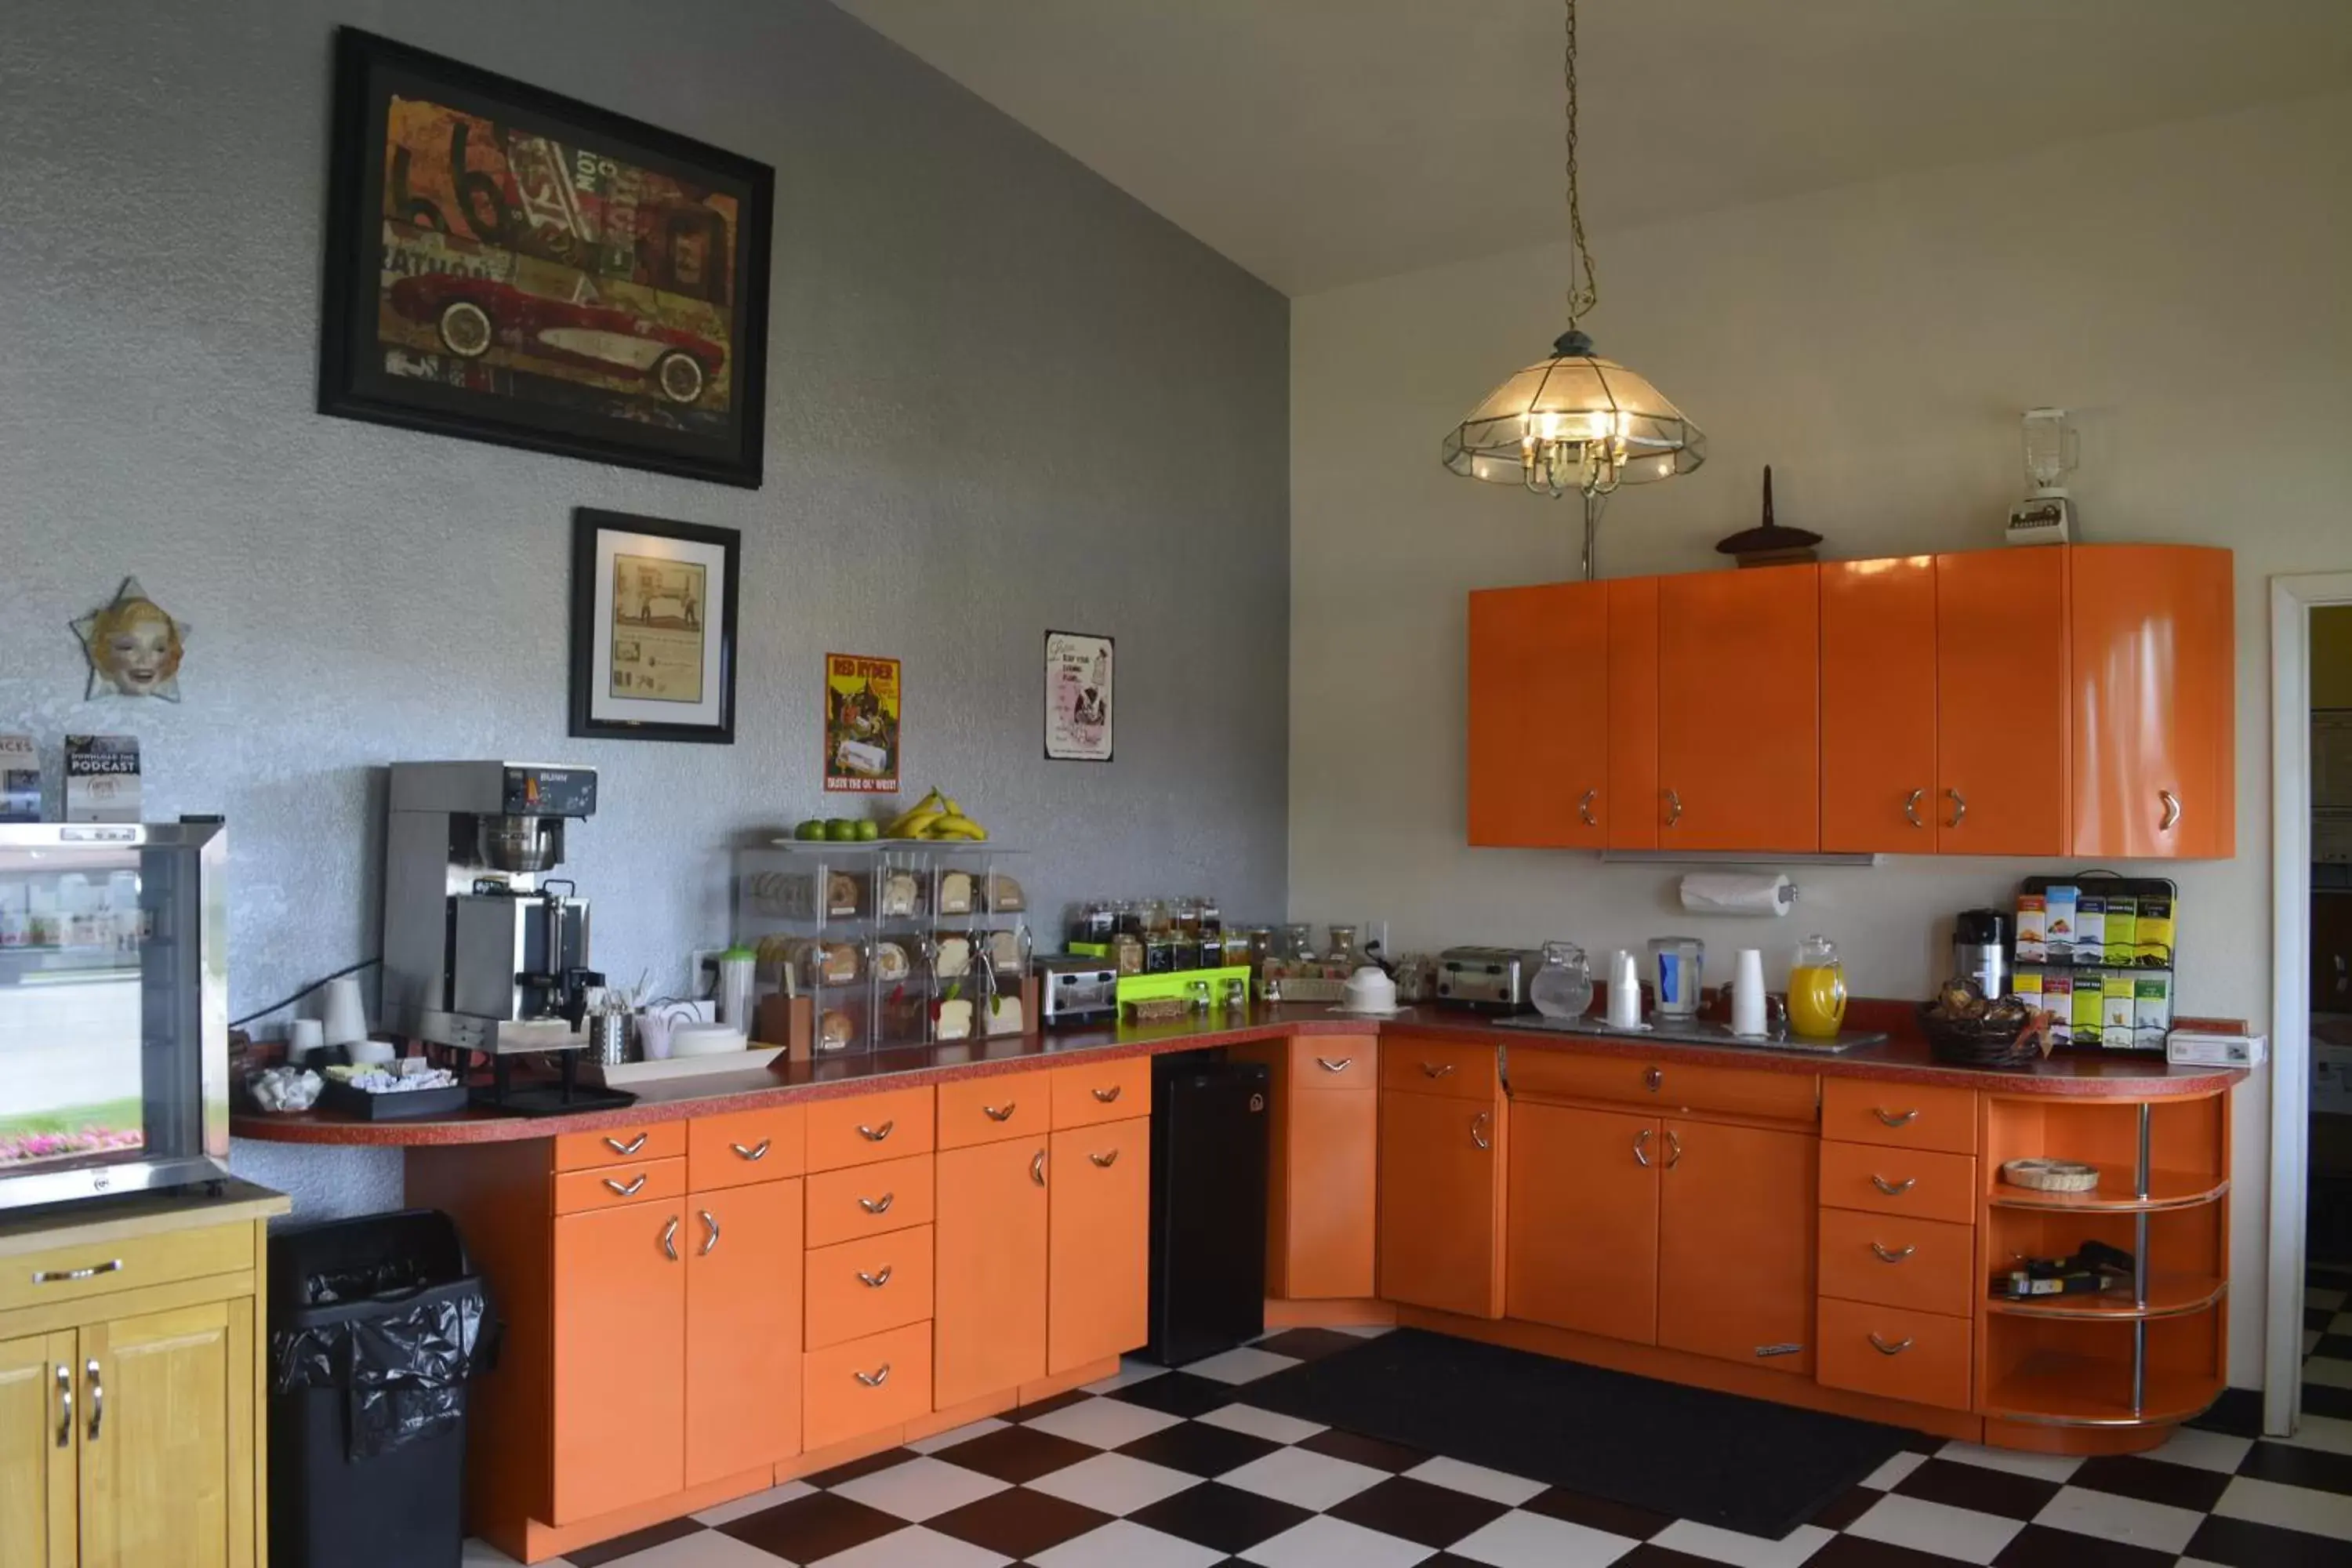
[[[767,487],[313,414],[329,33],[348,21],[776,167]],[[1035,846],[1040,907],[1284,907],[1289,310],[818,0],[0,7],[0,729],[129,731],[223,811],[233,1001],[374,950],[381,766],[602,771],[614,973],[724,933],[724,844],[823,806],[821,656],[906,658],[906,769]],[[739,743],[564,736],[572,508],[743,531]],[[125,574],[186,701],[82,701]],[[1120,639],[1117,762],[1047,764],[1040,644]],[[306,1213],[390,1159],[238,1145]]]

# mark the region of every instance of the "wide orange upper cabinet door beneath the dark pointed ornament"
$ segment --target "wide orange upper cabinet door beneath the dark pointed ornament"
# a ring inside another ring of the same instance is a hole
[[[1820,569],[1658,578],[1658,846],[1820,849]]]

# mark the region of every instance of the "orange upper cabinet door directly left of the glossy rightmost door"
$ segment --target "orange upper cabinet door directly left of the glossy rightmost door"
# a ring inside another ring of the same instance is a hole
[[[1936,557],[1936,849],[2067,853],[2067,550]]]

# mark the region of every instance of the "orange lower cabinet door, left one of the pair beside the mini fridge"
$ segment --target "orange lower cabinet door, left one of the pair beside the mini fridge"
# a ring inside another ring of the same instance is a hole
[[[1047,1138],[938,1154],[931,1394],[941,1410],[1044,1378],[1049,1161]]]

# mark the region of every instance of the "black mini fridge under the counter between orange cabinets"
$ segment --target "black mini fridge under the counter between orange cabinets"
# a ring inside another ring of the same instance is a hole
[[[1221,1051],[1152,1058],[1152,1274],[1143,1354],[1183,1366],[1265,1333],[1261,1063]]]

